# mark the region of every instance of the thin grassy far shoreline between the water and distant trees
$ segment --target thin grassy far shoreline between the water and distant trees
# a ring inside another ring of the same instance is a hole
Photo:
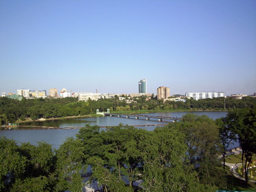
[[[203,109],[177,109],[177,110],[138,110],[138,111],[112,111],[117,114],[140,114],[140,113],[160,113],[160,112],[187,112],[187,111],[228,111],[224,109],[219,110],[203,110]],[[51,121],[58,119],[68,119],[68,118],[83,118],[83,117],[93,117],[93,116],[103,116],[102,114],[89,114],[89,115],[79,115],[79,116],[68,116],[68,117],[57,117],[57,118],[41,118],[36,120],[26,120],[26,121],[16,121],[14,123],[24,123],[24,122],[41,122],[41,121]]]

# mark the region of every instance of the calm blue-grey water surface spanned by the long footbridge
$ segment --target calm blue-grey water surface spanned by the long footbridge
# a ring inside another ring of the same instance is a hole
[[[225,117],[227,111],[192,111],[192,112],[161,112],[161,113],[149,113],[151,116],[164,116],[164,117],[179,117],[187,113],[193,113],[198,115],[206,114],[212,119]],[[85,124],[98,125],[98,126],[118,126],[119,123],[124,125],[155,125],[155,124],[168,124],[170,120],[159,122],[157,119],[146,120],[144,118],[124,118],[124,117],[87,117],[87,118],[70,118],[43,122],[28,122],[26,125],[31,126],[52,126],[52,127],[84,127]],[[20,125],[25,125],[20,124]],[[155,129],[156,126],[140,127],[149,131]],[[52,144],[53,148],[59,148],[59,145],[66,140],[67,137],[75,137],[79,129],[37,129],[37,130],[4,130],[0,131],[0,136],[5,136],[9,139],[13,138],[19,143],[30,142],[31,144],[37,144],[37,142],[45,141],[48,144]]]

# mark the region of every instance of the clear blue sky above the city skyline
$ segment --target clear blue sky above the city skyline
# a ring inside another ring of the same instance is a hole
[[[0,0],[0,92],[256,92],[256,0]]]

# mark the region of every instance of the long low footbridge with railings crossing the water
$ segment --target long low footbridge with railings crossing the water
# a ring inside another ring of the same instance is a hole
[[[151,116],[151,115],[142,115],[142,114],[118,114],[118,113],[104,113],[104,115],[109,115],[109,116],[116,116],[116,117],[135,117],[135,118],[145,118],[149,120],[150,118],[158,119],[158,121],[162,121],[163,119],[166,120],[173,120],[173,121],[180,121],[181,118],[175,118],[175,117],[161,117],[161,116]]]

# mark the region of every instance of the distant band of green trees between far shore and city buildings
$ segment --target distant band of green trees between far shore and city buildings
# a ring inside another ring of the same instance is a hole
[[[242,100],[226,98],[226,109],[252,107],[256,104],[256,98],[245,97]],[[100,111],[137,111],[137,110],[188,110],[188,109],[224,109],[224,98],[183,101],[146,100],[145,96],[134,98],[133,102],[126,103],[126,100],[101,99],[88,102],[79,101],[78,98],[39,98],[25,99],[21,101],[0,97],[0,125],[8,122],[15,122],[31,118],[56,118],[67,116],[78,116],[95,114],[96,109]]]

